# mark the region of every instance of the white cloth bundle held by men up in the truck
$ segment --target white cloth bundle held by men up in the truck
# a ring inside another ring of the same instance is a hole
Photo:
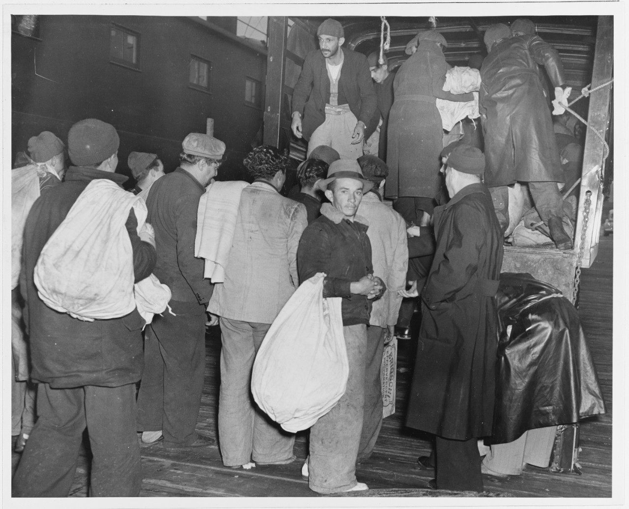
[[[478,111],[478,91],[481,87],[481,73],[470,67],[452,67],[445,73],[443,91],[452,94],[474,93],[474,101],[458,103],[448,99],[437,98],[437,109],[441,115],[443,128],[451,130],[454,125],[465,117],[477,118],[481,116]]]

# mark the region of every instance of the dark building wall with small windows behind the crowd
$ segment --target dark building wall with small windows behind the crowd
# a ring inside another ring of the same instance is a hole
[[[207,18],[235,31],[236,18]],[[139,36],[138,69],[110,61],[112,24]],[[129,152],[153,152],[177,166],[187,133],[227,145],[223,178],[243,178],[242,159],[262,139],[262,103],[245,103],[247,78],[264,86],[266,53],[211,30],[202,20],[163,16],[38,16],[38,39],[11,39],[12,152],[50,130],[64,142],[76,121],[98,118],[120,134],[118,172]],[[211,62],[209,91],[189,86],[191,55]]]

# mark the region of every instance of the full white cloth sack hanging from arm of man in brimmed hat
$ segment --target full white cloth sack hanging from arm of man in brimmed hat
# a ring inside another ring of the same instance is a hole
[[[311,427],[345,393],[349,366],[341,298],[323,298],[319,273],[292,294],[253,362],[255,402],[288,432]]]

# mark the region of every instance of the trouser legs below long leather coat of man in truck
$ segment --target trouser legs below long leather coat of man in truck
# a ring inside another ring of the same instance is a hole
[[[564,202],[559,193],[557,182],[528,182],[533,203],[540,218],[548,224],[548,219],[554,216],[564,216]],[[508,186],[490,187],[489,193],[494,202],[494,210],[503,230],[509,226],[509,188]]]

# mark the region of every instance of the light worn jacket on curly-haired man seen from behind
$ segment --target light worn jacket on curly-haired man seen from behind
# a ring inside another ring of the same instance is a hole
[[[242,322],[272,323],[299,286],[297,247],[306,208],[266,182],[245,187],[225,266],[208,311]]]

